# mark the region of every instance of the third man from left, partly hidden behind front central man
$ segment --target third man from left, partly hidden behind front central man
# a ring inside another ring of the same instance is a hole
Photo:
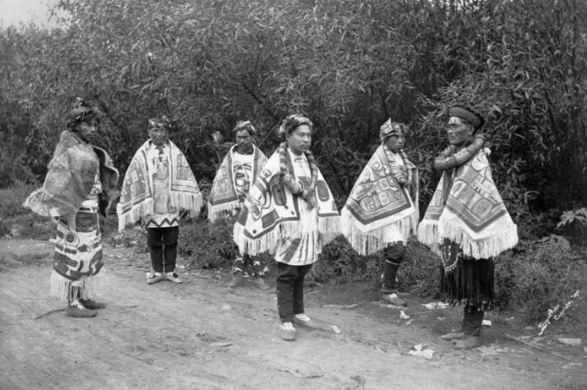
[[[253,142],[257,130],[250,121],[238,121],[233,132],[236,144],[224,156],[208,197],[208,220],[212,223],[219,218],[236,219],[234,216],[238,215],[238,211],[243,207],[251,183],[267,160],[265,154]],[[263,280],[264,267],[259,257],[252,260],[247,253],[234,259],[231,281],[227,287],[241,285],[245,271],[251,274],[261,290],[270,288]]]

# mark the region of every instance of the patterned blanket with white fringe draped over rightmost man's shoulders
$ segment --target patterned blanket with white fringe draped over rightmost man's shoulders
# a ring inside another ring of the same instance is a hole
[[[489,167],[489,149],[445,171],[418,227],[418,241],[441,255],[445,239],[457,243],[464,255],[489,259],[518,242],[513,223]]]

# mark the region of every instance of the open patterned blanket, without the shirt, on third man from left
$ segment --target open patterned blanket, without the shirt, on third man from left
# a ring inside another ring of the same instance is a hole
[[[226,211],[232,211],[241,207],[243,200],[238,196],[236,178],[233,170],[233,153],[236,145],[233,145],[222,160],[222,164],[216,172],[212,183],[210,196],[208,197],[208,219],[214,222]],[[252,175],[250,183],[254,182],[257,174],[266,163],[267,157],[258,147],[253,145],[254,164],[251,167]]]

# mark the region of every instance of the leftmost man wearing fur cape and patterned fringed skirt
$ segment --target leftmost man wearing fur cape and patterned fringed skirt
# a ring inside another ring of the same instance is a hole
[[[118,195],[119,172],[108,153],[91,144],[100,117],[98,107],[77,98],[43,187],[23,204],[56,222],[51,292],[68,302],[68,317],[94,317],[105,307],[90,299],[104,279],[98,212],[105,216]]]

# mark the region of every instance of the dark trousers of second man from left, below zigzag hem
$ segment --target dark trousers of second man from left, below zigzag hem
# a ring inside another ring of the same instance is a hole
[[[147,246],[153,271],[163,272],[164,263],[165,272],[175,271],[178,237],[179,226],[147,228]]]

